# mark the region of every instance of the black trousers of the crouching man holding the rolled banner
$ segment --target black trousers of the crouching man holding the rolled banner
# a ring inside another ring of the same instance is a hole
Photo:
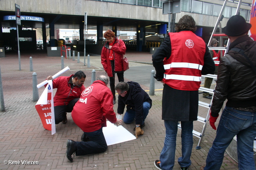
[[[59,124],[66,118],[66,112],[72,112],[78,98],[71,100],[67,105],[54,106],[55,124]]]

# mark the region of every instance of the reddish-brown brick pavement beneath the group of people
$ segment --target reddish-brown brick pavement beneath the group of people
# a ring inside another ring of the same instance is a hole
[[[151,54],[148,52],[127,52],[129,60],[151,61]],[[154,160],[159,159],[160,152],[164,143],[165,128],[161,120],[162,112],[162,91],[156,90],[152,108],[145,121],[145,132],[138,139],[122,142],[108,146],[104,153],[89,156],[75,156],[74,162],[69,162],[65,157],[66,140],[79,140],[82,130],[74,124],[71,114],[68,113],[68,123],[56,125],[56,134],[44,130],[38,113],[35,110],[36,102],[32,99],[32,73],[30,72],[29,57],[32,56],[33,68],[37,73],[38,83],[45,80],[48,75],[55,74],[61,70],[60,57],[47,57],[45,52],[21,52],[21,71],[18,66],[18,55],[6,53],[5,58],[0,58],[0,68],[2,76],[2,86],[4,92],[5,112],[0,112],[0,169],[3,170],[156,170]],[[83,58],[80,58],[83,61]],[[83,70],[86,74],[85,86],[91,82],[91,71],[96,69],[96,76],[104,74],[97,63],[99,56],[92,56],[91,68],[83,66],[83,63],[77,63],[77,60],[64,60],[65,66],[70,67],[70,71],[63,74],[69,76],[76,70]],[[130,62],[130,67],[134,66]],[[136,65],[137,66],[137,65]],[[73,70],[73,71],[72,71]],[[124,74],[125,76],[125,74]],[[125,81],[129,81],[125,79]],[[142,86],[145,90],[149,87]],[[39,89],[39,95],[43,88]],[[200,100],[207,101],[202,98]],[[114,105],[116,111],[117,104]],[[206,111],[199,108],[199,116],[205,117]],[[218,121],[218,120],[217,120]],[[123,124],[123,126],[133,133],[135,126],[132,124]],[[195,129],[201,130],[202,124],[194,123]],[[206,128],[201,149],[196,150],[198,138],[194,136],[194,147],[192,150],[192,165],[188,170],[199,170],[200,166],[205,164],[206,156],[212,145],[216,131],[210,126]],[[174,170],[179,170],[177,162],[181,156],[181,138],[180,130],[177,134],[176,160]],[[38,161],[38,165],[6,165],[4,160],[28,160]],[[238,164],[228,155],[225,155],[222,170],[238,170]]]

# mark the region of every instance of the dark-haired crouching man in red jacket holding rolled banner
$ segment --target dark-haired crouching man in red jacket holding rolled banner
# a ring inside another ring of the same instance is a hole
[[[46,78],[47,80],[52,80],[53,88],[57,88],[53,98],[55,124],[60,122],[67,123],[67,112],[72,112],[80,94],[84,91],[85,78],[86,75],[82,71],[78,71],[69,77],[60,76],[54,80],[52,80],[52,76]]]

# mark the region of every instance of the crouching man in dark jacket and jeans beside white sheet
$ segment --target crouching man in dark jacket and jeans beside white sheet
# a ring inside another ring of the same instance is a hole
[[[144,134],[142,128],[145,126],[144,121],[152,106],[152,100],[136,82],[119,82],[116,84],[115,90],[118,93],[117,113],[123,114],[127,104],[123,121],[128,124],[135,119],[136,127],[133,130],[136,138],[138,138],[138,135]]]

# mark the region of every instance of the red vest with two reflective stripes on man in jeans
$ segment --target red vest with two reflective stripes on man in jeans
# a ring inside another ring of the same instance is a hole
[[[198,90],[206,44],[192,31],[169,33],[172,54],[164,59],[163,81],[178,90]]]

